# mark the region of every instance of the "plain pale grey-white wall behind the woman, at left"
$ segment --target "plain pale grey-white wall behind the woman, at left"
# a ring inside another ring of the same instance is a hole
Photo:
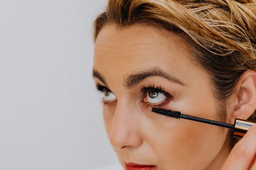
[[[106,3],[0,1],[1,170],[117,163],[92,78],[93,21]]]

